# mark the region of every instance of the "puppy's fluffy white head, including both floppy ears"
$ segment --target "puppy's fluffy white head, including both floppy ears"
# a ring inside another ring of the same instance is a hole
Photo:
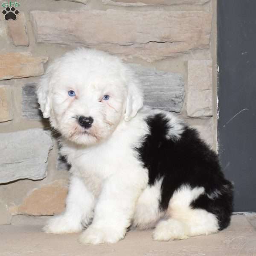
[[[128,122],[143,106],[130,68],[93,49],[76,49],[49,65],[37,94],[51,125],[84,145],[108,138],[122,119]]]

